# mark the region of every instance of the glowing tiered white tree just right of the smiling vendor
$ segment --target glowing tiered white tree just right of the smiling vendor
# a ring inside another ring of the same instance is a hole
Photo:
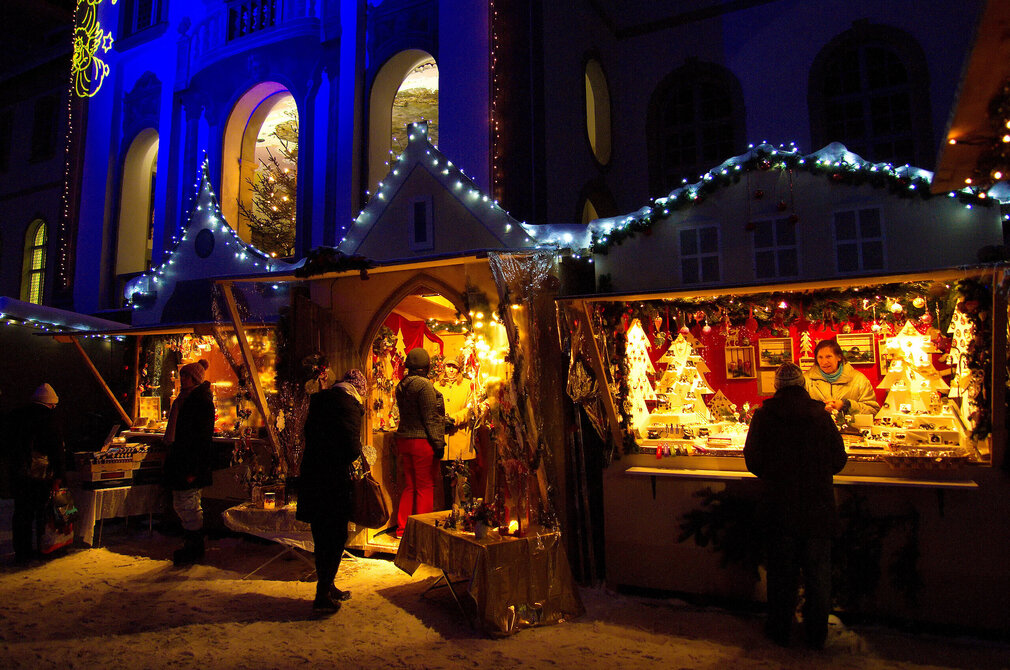
[[[941,407],[939,391],[949,387],[933,366],[930,354],[935,354],[929,336],[921,334],[911,321],[893,338],[884,341],[884,350],[893,358],[887,374],[878,388],[888,389],[879,417],[907,414],[938,414]]]

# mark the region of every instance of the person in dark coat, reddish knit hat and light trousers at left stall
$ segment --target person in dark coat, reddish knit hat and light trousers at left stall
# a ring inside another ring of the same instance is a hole
[[[181,390],[165,428],[165,485],[172,490],[172,505],[185,536],[172,557],[176,565],[201,561],[204,553],[200,489],[213,482],[214,438],[214,396],[204,380],[207,366],[201,359],[180,369]]]

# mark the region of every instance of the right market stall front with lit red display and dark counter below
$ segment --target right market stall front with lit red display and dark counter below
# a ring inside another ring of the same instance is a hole
[[[836,339],[876,389],[839,416],[836,605],[999,629],[1010,589],[1007,269],[560,301],[573,372],[601,393],[614,586],[761,598],[756,481],[742,447],[775,369]],[[970,611],[970,614],[964,612]],[[958,613],[954,613],[958,612]]]

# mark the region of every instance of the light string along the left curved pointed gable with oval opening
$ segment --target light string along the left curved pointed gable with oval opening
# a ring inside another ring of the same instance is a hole
[[[183,243],[189,240],[191,233],[195,235],[201,229],[209,229],[212,232],[227,232],[227,235],[215,236],[215,247],[218,241],[226,245],[233,258],[244,264],[246,266],[244,269],[250,274],[255,272],[272,272],[286,265],[242,241],[235,229],[225,220],[217,202],[217,195],[210,186],[208,166],[209,161],[204,158],[203,164],[200,167],[200,179],[194,184],[194,188],[197,191],[196,204],[190,209],[189,218],[182,227],[182,234],[172,236],[173,247],[166,255],[165,261],[130,280],[127,284],[127,301],[133,309],[141,307],[141,304],[136,299],[137,296],[147,297],[156,294],[159,286],[171,279],[171,274],[174,270],[173,266],[177,260],[176,256],[182,248]],[[203,220],[197,220],[198,217]]]

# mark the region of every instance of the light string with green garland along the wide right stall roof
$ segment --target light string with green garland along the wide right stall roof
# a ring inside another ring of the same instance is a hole
[[[802,155],[793,142],[789,149],[767,142],[729,159],[702,175],[699,181],[674,189],[664,197],[653,198],[648,205],[631,214],[598,219],[589,225],[588,241],[582,247],[595,254],[606,254],[609,248],[620,244],[635,232],[649,229],[673,212],[699,204],[720,188],[739,181],[748,172],[767,170],[803,170],[812,175],[822,175],[832,182],[848,185],[870,184],[875,188],[888,188],[899,197],[932,197],[929,185],[932,173],[908,165],[895,167],[890,163],[870,163],[845,149],[840,142],[831,142],[813,154]],[[956,198],[966,208],[995,204],[987,191],[980,188],[963,188],[950,191],[948,198]],[[549,227],[549,226],[548,226]]]

